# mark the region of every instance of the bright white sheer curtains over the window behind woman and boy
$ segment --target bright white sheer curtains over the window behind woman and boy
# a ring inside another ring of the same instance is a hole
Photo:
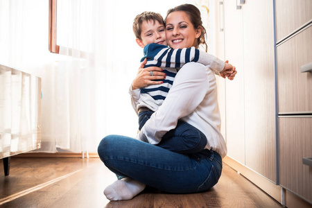
[[[96,152],[105,135],[135,137],[128,87],[143,53],[132,21],[190,2],[58,1],[58,55],[48,51],[48,0],[0,0],[0,64],[42,78],[40,151]]]

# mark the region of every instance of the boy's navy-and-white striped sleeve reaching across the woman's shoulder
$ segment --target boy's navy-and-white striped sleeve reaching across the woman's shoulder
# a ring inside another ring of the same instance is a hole
[[[144,47],[144,58],[148,59],[146,67],[180,68],[188,62],[204,64],[217,74],[223,71],[225,62],[214,55],[205,53],[195,47],[184,49],[172,49],[164,45],[148,44]]]

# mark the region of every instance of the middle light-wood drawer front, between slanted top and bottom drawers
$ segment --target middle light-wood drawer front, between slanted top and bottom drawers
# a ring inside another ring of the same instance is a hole
[[[312,73],[300,67],[312,63],[312,26],[277,46],[279,114],[312,112]]]

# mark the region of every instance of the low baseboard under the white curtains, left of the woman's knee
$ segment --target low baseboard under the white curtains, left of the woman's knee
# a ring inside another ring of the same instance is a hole
[[[13,157],[98,158],[98,153],[22,153]]]

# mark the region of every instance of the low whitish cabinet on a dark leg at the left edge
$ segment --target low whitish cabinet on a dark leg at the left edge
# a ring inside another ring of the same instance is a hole
[[[41,78],[0,65],[0,158],[41,147]]]

